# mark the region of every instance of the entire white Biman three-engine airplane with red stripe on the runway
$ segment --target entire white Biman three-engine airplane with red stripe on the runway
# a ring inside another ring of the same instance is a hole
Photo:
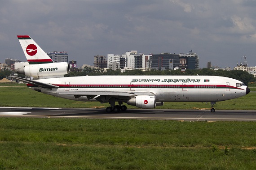
[[[243,82],[222,76],[75,76],[68,63],[53,60],[28,35],[18,35],[27,62],[15,64],[15,71],[31,79],[11,76],[27,87],[77,101],[110,103],[107,112],[126,110],[128,105],[143,109],[163,102],[216,102],[244,96],[250,89]],[[115,103],[118,102],[118,105]]]

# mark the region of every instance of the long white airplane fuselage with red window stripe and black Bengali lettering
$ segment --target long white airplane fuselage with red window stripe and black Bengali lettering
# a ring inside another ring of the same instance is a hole
[[[150,93],[156,97],[156,102],[216,102],[244,96],[247,88],[241,81],[221,76],[76,76],[37,81],[59,88],[28,86],[43,93],[80,101],[96,101],[97,95],[108,93],[112,96]]]

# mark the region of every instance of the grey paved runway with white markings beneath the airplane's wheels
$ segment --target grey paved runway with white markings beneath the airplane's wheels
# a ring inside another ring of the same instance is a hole
[[[256,121],[256,110],[171,110],[128,109],[107,113],[91,108],[0,107],[0,117],[87,118],[87,119],[165,119],[184,121]]]

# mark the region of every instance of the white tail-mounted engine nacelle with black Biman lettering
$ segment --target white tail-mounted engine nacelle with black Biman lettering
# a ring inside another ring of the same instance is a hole
[[[62,76],[70,72],[70,65],[68,63],[29,64],[15,71],[34,78]]]

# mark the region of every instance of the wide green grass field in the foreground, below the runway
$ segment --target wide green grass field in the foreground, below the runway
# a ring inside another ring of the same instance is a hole
[[[255,125],[0,118],[0,170],[255,169]]]

